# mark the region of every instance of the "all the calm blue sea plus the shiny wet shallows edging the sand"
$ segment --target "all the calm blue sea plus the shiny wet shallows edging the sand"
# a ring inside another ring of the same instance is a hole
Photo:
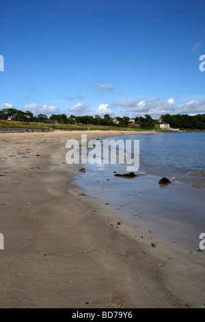
[[[114,171],[126,172],[126,164],[87,164],[77,184],[128,223],[196,249],[205,232],[205,132],[119,138],[139,140],[139,176],[115,177]],[[160,186],[161,177],[172,183]]]

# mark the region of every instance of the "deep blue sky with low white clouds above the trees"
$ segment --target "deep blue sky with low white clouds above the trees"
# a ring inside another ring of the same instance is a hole
[[[205,113],[204,0],[7,0],[0,109]]]

